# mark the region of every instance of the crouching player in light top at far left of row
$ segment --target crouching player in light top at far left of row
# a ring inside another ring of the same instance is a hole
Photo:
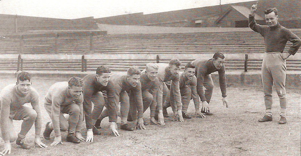
[[[1,155],[11,153],[10,142],[14,142],[16,139],[16,144],[21,148],[30,149],[31,147],[24,139],[33,123],[35,123],[36,130],[35,143],[41,148],[47,147],[40,138],[42,120],[39,95],[31,85],[31,75],[28,72],[20,72],[16,84],[8,85],[2,90],[0,126],[1,138],[5,143],[4,149],[0,152]],[[27,105],[29,103],[32,108]],[[13,120],[23,120],[18,135],[15,134]]]

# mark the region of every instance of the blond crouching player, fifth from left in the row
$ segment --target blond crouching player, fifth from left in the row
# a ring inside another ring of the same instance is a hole
[[[157,78],[158,74],[158,66],[156,63],[147,63],[145,67],[145,72],[142,72],[140,77],[141,82],[141,91],[142,91],[142,99],[143,99],[143,112],[150,108],[150,120],[154,124],[164,124],[164,117],[162,111],[162,89],[160,90],[160,82]],[[131,101],[130,99],[130,102]],[[133,107],[134,105],[130,105],[129,117],[128,121],[137,119],[137,108]],[[155,120],[156,110],[159,110],[157,114],[158,122]],[[144,125],[146,121],[144,121]]]

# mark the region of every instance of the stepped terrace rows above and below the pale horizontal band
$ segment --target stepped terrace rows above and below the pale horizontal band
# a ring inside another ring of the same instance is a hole
[[[301,30],[293,31],[301,36]],[[91,42],[93,41],[93,47]],[[98,35],[93,38],[76,36],[2,38],[0,54],[198,54],[198,53],[264,53],[264,41],[256,32],[213,32],[175,34],[127,34]],[[21,45],[21,46],[20,46]],[[55,46],[57,45],[57,46]],[[285,51],[291,45],[288,42]],[[172,55],[171,55],[172,58]],[[14,58],[17,59],[17,58]],[[242,60],[227,60],[228,70],[243,70]],[[191,60],[181,59],[184,63]],[[87,60],[87,69],[95,70],[104,63],[112,70],[125,71],[129,66],[138,65],[141,69],[154,60]],[[167,63],[168,60],[160,60]],[[249,60],[248,69],[261,69],[262,60]],[[0,61],[0,70],[16,70],[17,60]],[[288,70],[301,70],[301,60],[287,60]],[[81,70],[81,60],[29,60],[23,59],[23,70]]]

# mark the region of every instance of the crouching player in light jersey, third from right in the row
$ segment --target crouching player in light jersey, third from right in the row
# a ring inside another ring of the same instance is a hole
[[[157,77],[159,78],[160,88],[162,88],[163,92],[163,115],[168,117],[166,108],[171,106],[175,120],[182,122],[184,120],[182,116],[182,102],[179,88],[181,62],[178,59],[172,59],[168,64],[157,63],[157,66],[159,67]],[[171,81],[170,90],[165,84],[165,82],[168,81]],[[157,110],[156,113],[159,113],[159,110]]]

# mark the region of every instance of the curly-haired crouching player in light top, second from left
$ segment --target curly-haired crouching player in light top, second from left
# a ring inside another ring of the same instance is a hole
[[[68,82],[57,82],[53,84],[45,96],[45,109],[51,121],[47,122],[43,136],[50,139],[50,134],[54,130],[54,141],[50,145],[62,143],[61,131],[67,131],[67,142],[80,143],[84,141],[82,137],[82,79],[72,77]],[[69,114],[69,119],[63,113]]]

